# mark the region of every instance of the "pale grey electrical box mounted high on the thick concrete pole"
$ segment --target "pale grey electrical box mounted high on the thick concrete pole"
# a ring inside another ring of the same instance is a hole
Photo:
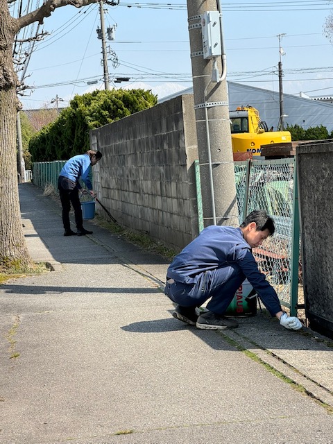
[[[201,31],[203,35],[203,58],[221,56],[220,12],[207,11],[201,15]]]

